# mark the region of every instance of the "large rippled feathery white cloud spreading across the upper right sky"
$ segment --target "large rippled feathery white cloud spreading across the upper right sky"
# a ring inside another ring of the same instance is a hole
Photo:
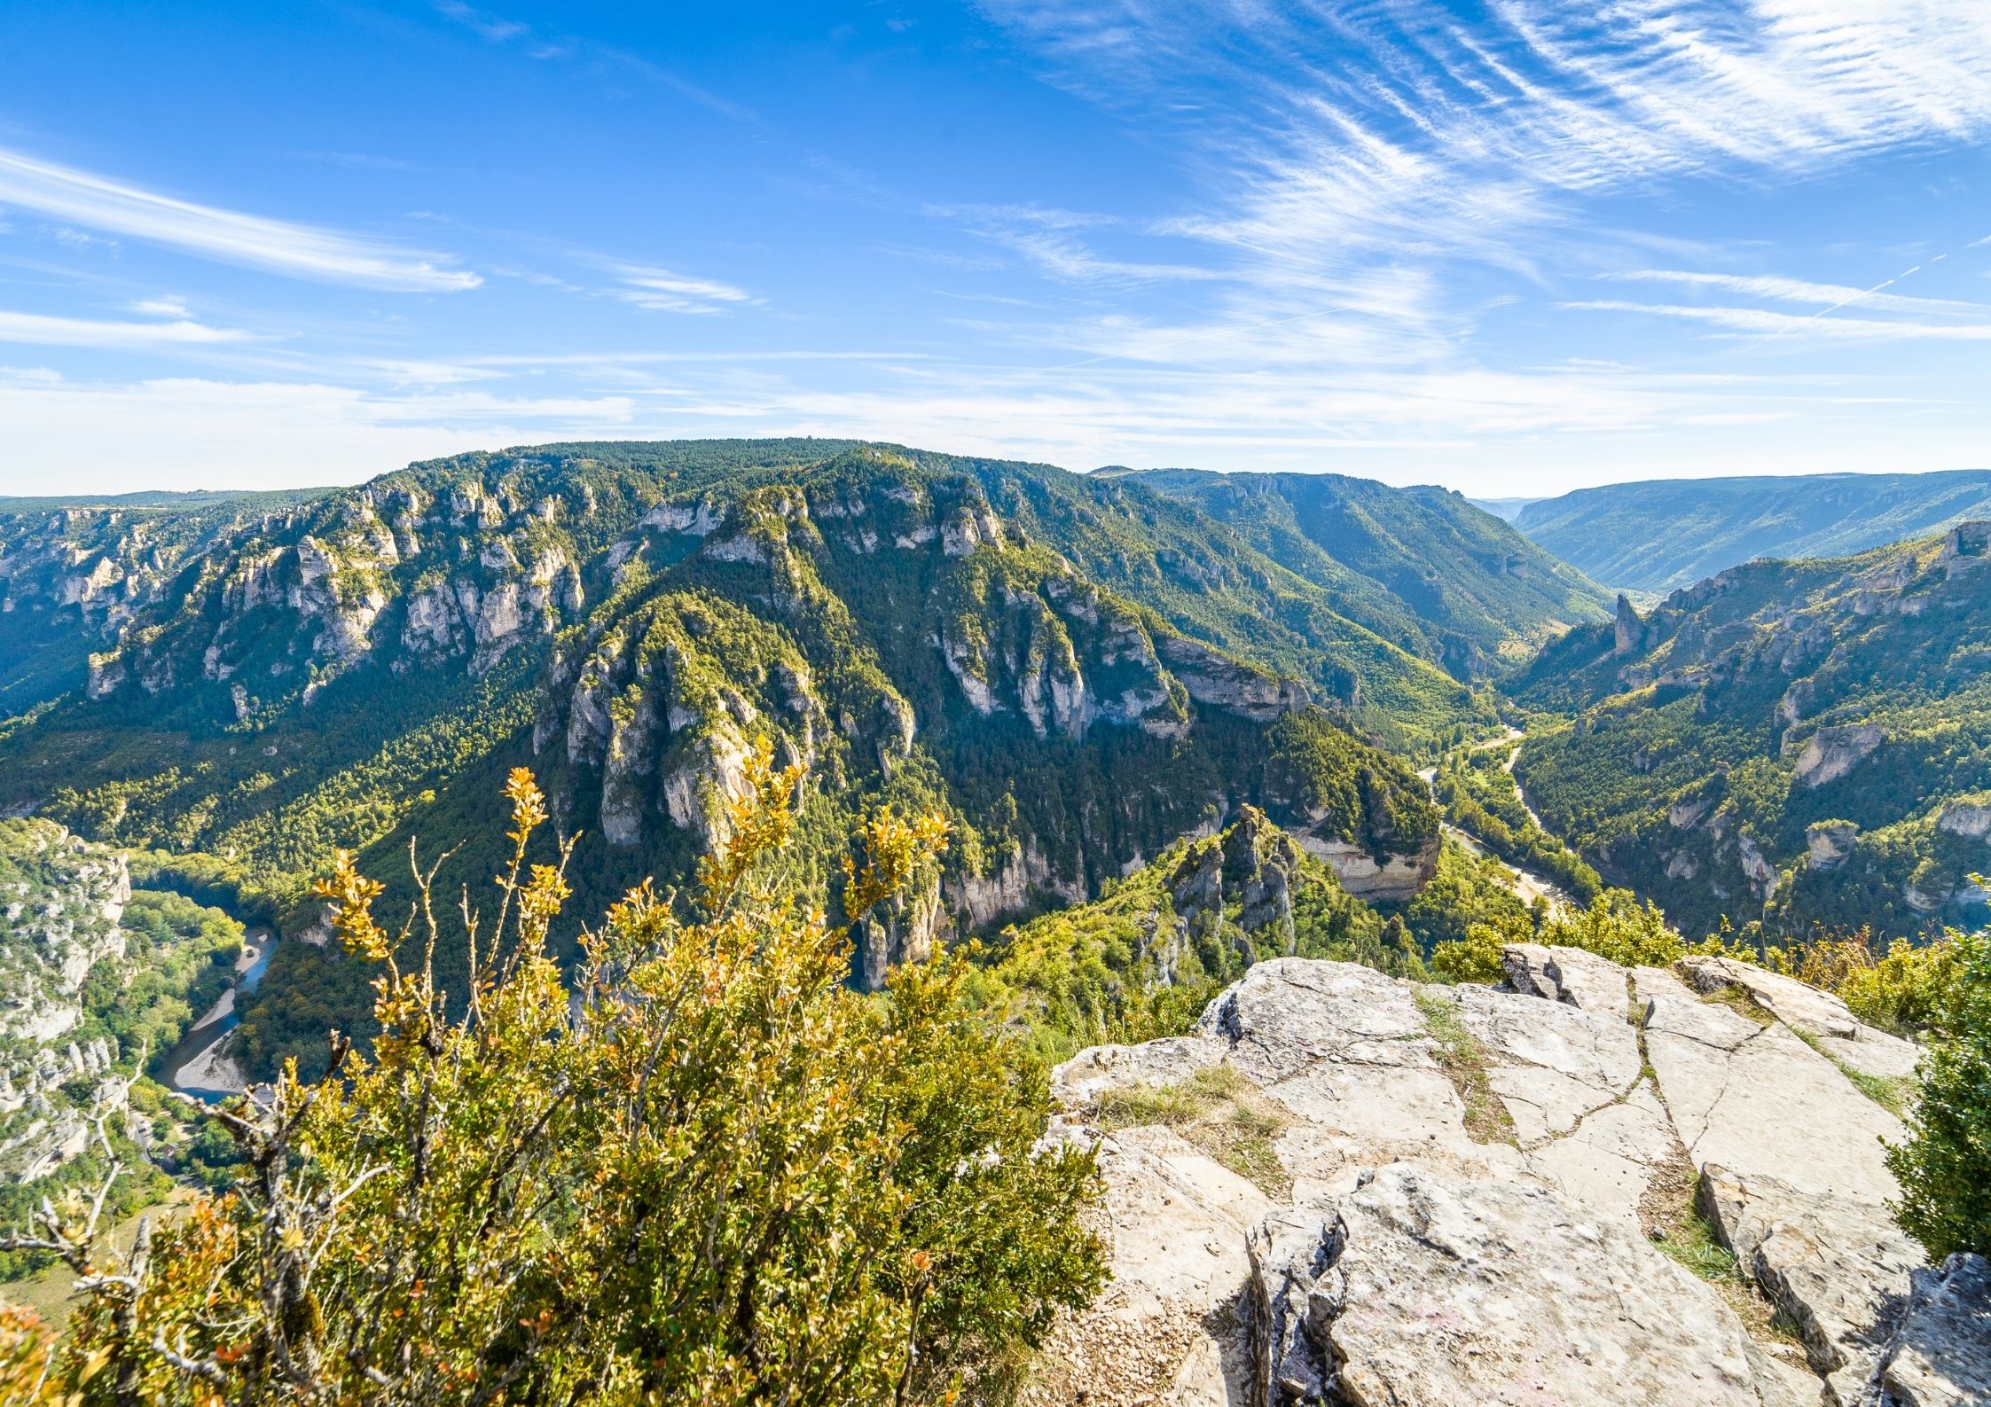
[[[1477,295],[1459,291],[1475,279],[1607,269],[1641,233],[1601,227],[1603,199],[1991,139],[1991,6],[1953,0],[984,10],[1041,54],[1051,82],[1129,113],[1205,173],[1201,209],[1149,233],[1201,245],[1197,263],[1224,273],[1211,320],[1242,326],[1254,310],[1346,304],[1354,285],[1412,285],[1366,299],[1370,336],[1342,338],[1352,346],[1392,324],[1461,346],[1461,297]]]

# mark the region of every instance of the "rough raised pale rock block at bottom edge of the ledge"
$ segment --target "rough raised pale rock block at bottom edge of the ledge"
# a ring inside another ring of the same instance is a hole
[[[1758,1407],[1734,1313],[1543,1186],[1396,1162],[1250,1240],[1264,1407]]]

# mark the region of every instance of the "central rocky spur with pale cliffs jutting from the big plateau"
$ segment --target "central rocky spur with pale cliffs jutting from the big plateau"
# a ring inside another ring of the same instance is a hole
[[[1414,782],[1374,754],[1324,778],[1352,740],[1302,683],[1025,537],[976,480],[888,458],[657,505],[611,543],[617,589],[544,677],[532,746],[557,814],[637,854],[711,850],[757,744],[800,768],[804,798],[888,800],[926,768],[1005,780],[1001,812],[960,814],[962,858],[860,925],[868,983],[950,931],[1087,898],[1209,810],[1272,808],[1350,888],[1408,894],[1430,874]],[[1304,736],[1282,742],[1294,718]],[[1033,776],[1081,788],[1079,810]]]

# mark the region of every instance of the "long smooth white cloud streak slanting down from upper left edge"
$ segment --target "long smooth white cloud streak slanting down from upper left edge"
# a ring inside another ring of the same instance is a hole
[[[474,273],[424,255],[315,225],[195,205],[110,177],[0,147],[0,205],[171,245],[203,259],[362,289],[458,293]]]

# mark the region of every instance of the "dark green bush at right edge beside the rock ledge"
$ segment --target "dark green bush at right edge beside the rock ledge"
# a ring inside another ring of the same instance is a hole
[[[1991,1254],[1991,933],[1959,933],[1937,1029],[1915,1073],[1905,1142],[1887,1150],[1893,1208],[1931,1258]]]

